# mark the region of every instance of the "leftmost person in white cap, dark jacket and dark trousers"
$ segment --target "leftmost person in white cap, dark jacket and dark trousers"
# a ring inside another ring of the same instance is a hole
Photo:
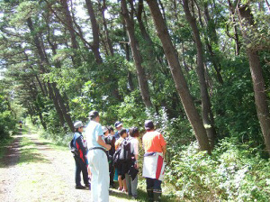
[[[75,133],[72,139],[73,146],[79,152],[79,155],[74,155],[74,160],[76,163],[75,169],[75,188],[89,188],[90,183],[88,179],[87,165],[86,165],[86,148],[84,144],[84,137],[82,132],[84,131],[84,124],[81,121],[77,121],[74,124]],[[83,173],[83,179],[85,182],[85,187],[81,185],[81,172]]]

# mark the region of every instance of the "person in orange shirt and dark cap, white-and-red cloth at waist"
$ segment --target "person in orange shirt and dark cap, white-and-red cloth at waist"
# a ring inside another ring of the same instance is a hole
[[[151,120],[145,121],[145,133],[142,144],[145,150],[142,176],[147,180],[148,198],[150,201],[160,201],[161,181],[164,178],[164,159],[166,156],[166,142],[161,133],[154,130]]]

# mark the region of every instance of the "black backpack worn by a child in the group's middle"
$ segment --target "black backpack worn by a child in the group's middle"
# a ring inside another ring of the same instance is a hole
[[[121,162],[130,161],[133,154],[130,151],[130,140],[123,140],[120,147],[112,156],[112,165],[117,166]]]

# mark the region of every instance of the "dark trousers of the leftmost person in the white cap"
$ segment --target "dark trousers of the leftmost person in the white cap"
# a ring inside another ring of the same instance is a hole
[[[88,172],[87,172],[87,167],[86,167],[85,162],[79,157],[74,157],[74,159],[75,159],[75,164],[76,164],[76,167],[75,167],[76,185],[77,186],[81,185],[81,172],[83,172],[83,179],[84,179],[85,185],[89,184]]]

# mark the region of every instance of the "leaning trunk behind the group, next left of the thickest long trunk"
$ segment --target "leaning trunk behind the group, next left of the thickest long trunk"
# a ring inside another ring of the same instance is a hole
[[[132,56],[135,61],[135,66],[137,69],[137,74],[138,74],[138,79],[139,79],[140,94],[142,96],[142,100],[145,106],[149,108],[152,106],[152,103],[149,96],[148,81],[146,78],[145,70],[143,69],[141,65],[142,59],[139,53],[139,43],[135,39],[133,18],[129,14],[127,3],[125,0],[121,0],[121,14],[123,15],[123,18],[127,26],[127,32],[130,39],[130,47],[132,51]]]

